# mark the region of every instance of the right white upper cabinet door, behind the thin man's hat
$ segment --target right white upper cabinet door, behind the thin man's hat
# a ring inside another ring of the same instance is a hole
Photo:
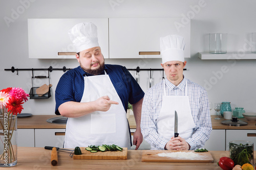
[[[184,37],[185,58],[190,58],[190,18],[110,18],[110,58],[161,58],[160,37]]]

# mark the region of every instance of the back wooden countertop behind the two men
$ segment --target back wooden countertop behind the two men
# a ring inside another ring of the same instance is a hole
[[[51,124],[46,122],[48,118],[52,117],[61,117],[61,115],[32,115],[30,117],[18,117],[17,120],[17,127],[18,129],[65,129],[66,125],[63,124]],[[256,121],[248,121],[245,118],[239,118],[239,120],[243,120],[245,122],[248,122],[248,125],[246,126],[227,126],[221,124],[221,122],[224,120],[222,117],[220,120],[214,119],[216,116],[211,116],[211,124],[212,129],[241,129],[241,130],[256,130],[255,123]],[[130,115],[129,117],[129,125],[131,129],[136,129],[136,123],[134,119],[134,115]]]

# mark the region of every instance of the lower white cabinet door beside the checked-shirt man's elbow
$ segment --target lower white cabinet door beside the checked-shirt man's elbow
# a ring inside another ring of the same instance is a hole
[[[204,148],[208,151],[225,151],[225,130],[213,129]]]

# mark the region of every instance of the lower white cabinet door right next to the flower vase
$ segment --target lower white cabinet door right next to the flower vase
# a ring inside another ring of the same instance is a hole
[[[18,129],[17,145],[18,147],[35,147],[34,129]]]

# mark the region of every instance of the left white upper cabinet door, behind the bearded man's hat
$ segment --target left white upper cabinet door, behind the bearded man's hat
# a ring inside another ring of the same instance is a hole
[[[104,58],[109,58],[108,18],[28,19],[29,58],[75,59],[74,52],[76,50],[69,38],[68,31],[80,22],[92,22],[97,26],[98,42],[102,54]]]

